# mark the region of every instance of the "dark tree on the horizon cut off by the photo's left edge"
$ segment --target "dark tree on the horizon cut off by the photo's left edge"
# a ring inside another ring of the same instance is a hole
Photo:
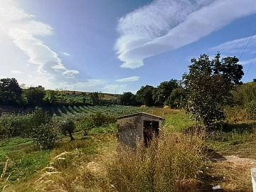
[[[0,80],[0,102],[4,105],[17,105],[21,103],[21,87],[15,78]]]

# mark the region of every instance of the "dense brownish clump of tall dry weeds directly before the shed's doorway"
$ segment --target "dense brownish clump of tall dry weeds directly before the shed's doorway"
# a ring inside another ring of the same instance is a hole
[[[206,175],[203,142],[198,137],[162,134],[148,148],[120,146],[107,165],[117,191],[197,191]]]

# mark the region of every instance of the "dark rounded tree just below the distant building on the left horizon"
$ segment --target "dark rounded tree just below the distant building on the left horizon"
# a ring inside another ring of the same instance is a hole
[[[29,87],[23,92],[28,102],[28,105],[41,106],[43,104],[43,98],[46,95],[45,90],[41,89],[40,87]]]

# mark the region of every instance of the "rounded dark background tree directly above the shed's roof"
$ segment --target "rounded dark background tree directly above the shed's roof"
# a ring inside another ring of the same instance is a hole
[[[153,92],[155,89],[155,87],[150,85],[142,86],[136,93],[138,102],[147,106],[154,105]]]

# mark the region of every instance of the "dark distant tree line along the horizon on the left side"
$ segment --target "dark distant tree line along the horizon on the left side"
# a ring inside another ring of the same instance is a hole
[[[0,105],[16,107],[46,107],[49,105],[99,105],[102,94],[99,92],[80,92],[63,90],[44,90],[43,87],[23,87],[15,78],[0,80]]]

